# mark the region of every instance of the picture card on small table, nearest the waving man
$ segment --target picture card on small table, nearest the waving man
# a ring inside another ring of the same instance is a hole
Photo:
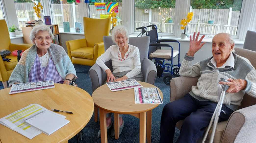
[[[157,88],[134,88],[135,104],[163,104]]]

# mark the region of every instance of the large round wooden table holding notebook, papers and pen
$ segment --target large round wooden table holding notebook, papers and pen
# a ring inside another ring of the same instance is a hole
[[[89,93],[66,84],[55,84],[55,88],[9,94],[10,88],[0,90],[0,118],[30,104],[39,104],[49,110],[71,111],[73,114],[59,112],[70,122],[50,136],[41,133],[33,139],[0,125],[0,140],[5,142],[68,142],[89,122],[94,110],[93,99]]]

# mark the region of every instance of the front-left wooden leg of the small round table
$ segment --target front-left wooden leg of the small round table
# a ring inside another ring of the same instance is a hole
[[[100,132],[101,132],[101,143],[107,143],[107,121],[106,121],[106,113],[104,110],[100,109]]]

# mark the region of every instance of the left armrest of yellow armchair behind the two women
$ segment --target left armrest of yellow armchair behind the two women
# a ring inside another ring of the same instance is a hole
[[[66,41],[66,45],[68,50],[68,56],[70,59],[71,59],[71,51],[82,48],[82,47],[87,47],[85,38]]]

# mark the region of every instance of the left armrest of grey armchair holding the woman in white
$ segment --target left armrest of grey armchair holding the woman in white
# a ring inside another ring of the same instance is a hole
[[[108,61],[105,64],[112,71],[111,62]],[[105,71],[103,71],[98,64],[94,64],[90,68],[90,70],[89,70],[89,77],[90,77],[91,82],[92,82],[92,91],[94,91],[95,89],[97,89],[98,87],[103,85],[104,82],[107,79],[107,75],[106,75]]]

